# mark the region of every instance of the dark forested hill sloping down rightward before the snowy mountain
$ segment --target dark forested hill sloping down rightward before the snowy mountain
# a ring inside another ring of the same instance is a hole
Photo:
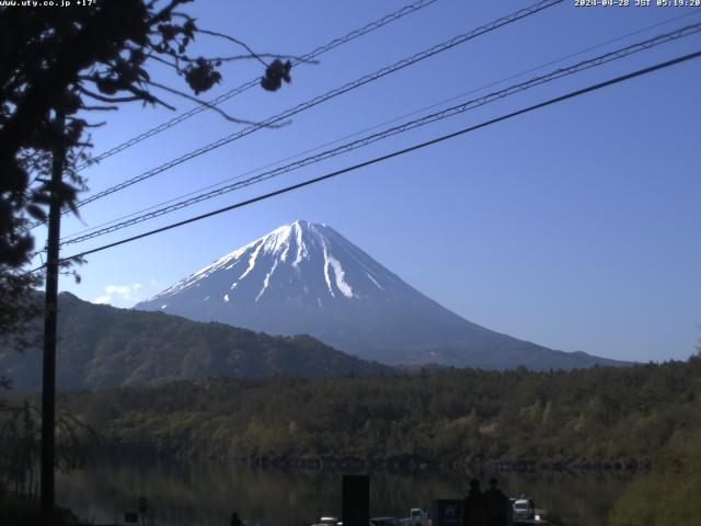
[[[82,301],[68,293],[59,295],[58,308],[56,364],[60,389],[102,389],[219,376],[395,374],[391,367],[341,353],[310,336],[268,336],[162,312],[115,309]],[[37,329],[38,325],[37,320]],[[0,347],[0,376],[12,378],[18,389],[39,389],[41,350],[18,353]]]

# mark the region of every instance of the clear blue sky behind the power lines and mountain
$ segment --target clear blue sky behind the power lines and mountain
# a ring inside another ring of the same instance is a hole
[[[202,27],[237,36],[261,53],[301,55],[405,3],[197,0],[188,10]],[[660,25],[537,73],[701,22],[699,9],[634,3],[579,8],[574,0],[565,1],[296,115],[284,128],[260,130],[87,205],[81,210],[83,222],[67,219],[62,232],[240,175],[653,24]],[[439,0],[323,55],[318,65],[297,67],[292,83],[279,92],[249,90],[222,108],[241,118],[266,118],[528,4]],[[679,19],[662,24],[673,18]],[[209,37],[200,37],[197,45],[210,55],[240,52],[231,43]],[[317,176],[700,48],[700,35],[666,44],[268,183],[68,247],[62,254]],[[222,83],[207,95],[223,93],[261,73],[261,65],[254,61],[229,64]],[[159,68],[152,75],[170,79]],[[701,338],[700,88],[701,59],[697,59],[91,255],[80,268],[82,282],[64,278],[60,288],[91,301],[130,307],[279,225],[301,218],[332,226],[430,298],[490,329],[553,348],[614,358],[686,358]],[[176,103],[179,111],[193,107],[184,99],[163,96]],[[107,126],[94,132],[94,152],[173,115],[140,105],[108,114]],[[239,128],[205,112],[87,170],[90,192]]]

